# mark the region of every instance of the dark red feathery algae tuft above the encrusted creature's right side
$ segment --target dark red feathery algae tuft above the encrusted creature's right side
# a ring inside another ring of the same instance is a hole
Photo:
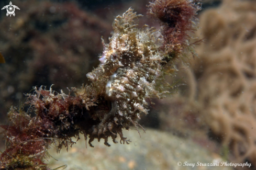
[[[180,55],[190,45],[187,40],[190,32],[197,30],[195,15],[201,5],[186,0],[154,0],[148,5],[148,16],[161,21],[161,33],[164,37],[162,48],[173,57]]]

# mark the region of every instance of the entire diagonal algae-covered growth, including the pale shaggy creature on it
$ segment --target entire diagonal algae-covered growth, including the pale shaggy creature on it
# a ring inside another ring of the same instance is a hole
[[[122,130],[129,130],[129,124],[141,127],[137,119],[148,114],[146,99],[169,93],[174,87],[164,83],[164,75],[174,75],[175,62],[193,53],[188,33],[196,29],[193,20],[199,9],[193,1],[154,1],[149,13],[162,21],[159,31],[147,25],[138,28],[142,15],[131,8],[117,16],[109,43],[102,40],[101,64],[87,74],[90,85],[71,88],[68,95],[35,87],[27,94],[27,109],[10,109],[10,125],[1,126],[7,142],[2,168],[48,169],[43,161],[49,145],[56,145],[57,151],[63,145],[68,148],[75,143],[71,137],[79,139],[79,133],[92,147],[94,139],[110,146],[111,137],[117,143],[117,134],[120,143],[129,144]],[[168,13],[162,16],[161,11]]]

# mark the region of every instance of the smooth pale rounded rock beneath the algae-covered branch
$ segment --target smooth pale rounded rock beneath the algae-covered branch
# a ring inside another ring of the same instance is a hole
[[[178,138],[168,132],[147,129],[147,133],[141,134],[141,138],[136,130],[125,131],[124,134],[132,139],[132,143],[126,147],[112,144],[110,148],[106,148],[103,143],[98,143],[94,148],[86,148],[85,141],[81,139],[69,149],[69,152],[63,150],[56,154],[52,149],[50,154],[58,161],[51,158],[49,166],[56,168],[66,164],[67,170],[232,169],[228,166],[177,166],[177,162],[196,164],[225,160],[191,140]]]

